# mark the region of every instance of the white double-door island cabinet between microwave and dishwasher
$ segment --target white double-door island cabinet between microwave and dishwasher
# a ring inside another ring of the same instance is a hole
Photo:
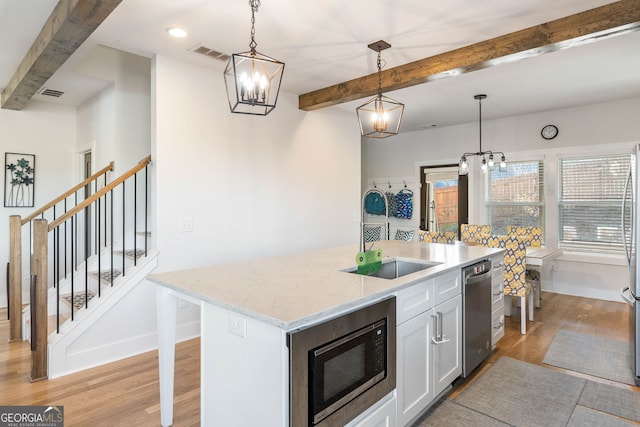
[[[396,294],[398,425],[407,425],[462,373],[461,273]]]

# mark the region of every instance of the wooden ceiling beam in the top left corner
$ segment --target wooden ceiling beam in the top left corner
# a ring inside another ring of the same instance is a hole
[[[21,110],[122,0],[60,0],[2,91],[2,108]]]

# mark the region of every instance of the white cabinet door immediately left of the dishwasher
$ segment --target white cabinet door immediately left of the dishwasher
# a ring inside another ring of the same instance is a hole
[[[431,340],[437,396],[462,374],[462,295],[434,307],[433,320],[437,322]]]

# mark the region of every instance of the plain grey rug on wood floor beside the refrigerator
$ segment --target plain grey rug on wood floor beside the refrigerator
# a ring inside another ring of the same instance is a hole
[[[560,329],[542,363],[635,385],[631,343]]]

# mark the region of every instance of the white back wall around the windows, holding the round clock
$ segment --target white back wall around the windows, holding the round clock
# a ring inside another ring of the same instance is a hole
[[[490,111],[491,100],[483,104]],[[470,106],[471,108],[472,106]],[[567,153],[631,152],[640,142],[640,98],[546,111],[497,120],[483,120],[483,149],[503,151],[507,160],[545,159],[545,238],[557,245],[557,156]],[[546,124],[560,129],[557,138],[545,141],[540,129]],[[363,183],[376,177],[415,177],[424,165],[457,164],[463,152],[478,151],[478,123],[399,134],[392,139],[363,142]],[[483,223],[484,182],[479,165],[471,166],[469,222]],[[416,206],[419,200],[416,198]],[[580,274],[576,274],[579,271]],[[606,271],[606,274],[602,272]],[[566,254],[555,265],[553,290],[620,301],[618,292],[627,280],[622,257]]]

